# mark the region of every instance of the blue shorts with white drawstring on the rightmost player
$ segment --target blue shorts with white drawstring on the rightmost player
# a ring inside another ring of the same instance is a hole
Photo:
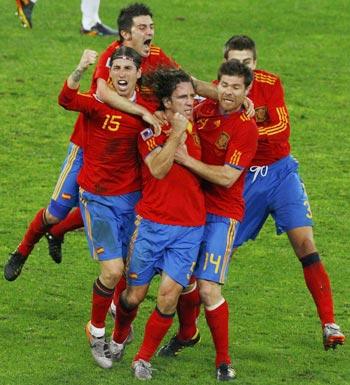
[[[255,171],[254,171],[255,170]],[[270,166],[251,167],[245,179],[245,216],[234,246],[255,239],[269,214],[277,234],[297,227],[312,226],[312,214],[298,162],[287,156]]]

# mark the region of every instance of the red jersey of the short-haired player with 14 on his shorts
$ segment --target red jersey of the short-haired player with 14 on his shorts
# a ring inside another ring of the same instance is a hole
[[[242,111],[222,115],[218,102],[210,99],[200,103],[194,115],[204,163],[228,164],[237,169],[250,165],[258,140],[254,119],[248,118]],[[229,188],[204,182],[207,212],[241,221],[244,214],[244,177],[245,172],[242,172]]]

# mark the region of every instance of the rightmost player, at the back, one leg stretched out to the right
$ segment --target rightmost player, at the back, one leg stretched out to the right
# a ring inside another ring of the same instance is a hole
[[[317,307],[325,349],[342,345],[345,337],[335,323],[332,290],[313,237],[309,199],[290,154],[290,121],[278,76],[256,69],[255,42],[233,36],[225,44],[226,60],[237,59],[254,70],[249,97],[256,109],[258,149],[246,176],[246,212],[238,228],[235,247],[255,239],[269,215],[277,234],[287,233],[304,272],[306,285]]]

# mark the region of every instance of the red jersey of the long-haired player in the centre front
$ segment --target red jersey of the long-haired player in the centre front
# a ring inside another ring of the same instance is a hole
[[[164,129],[169,129],[169,126]],[[138,148],[142,158],[166,140],[164,132],[148,140],[140,135]],[[186,146],[191,156],[201,158],[201,146],[194,127],[192,132],[187,133]],[[166,225],[204,225],[205,203],[199,178],[186,167],[174,163],[163,179],[157,179],[143,162],[142,198],[136,205],[136,212],[146,219]]]

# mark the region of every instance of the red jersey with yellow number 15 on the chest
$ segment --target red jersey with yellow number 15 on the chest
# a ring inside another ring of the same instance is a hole
[[[136,94],[136,102],[145,104]],[[115,110],[90,94],[64,84],[59,104],[84,116],[84,158],[77,181],[96,195],[121,195],[141,189],[137,138],[140,117]]]

